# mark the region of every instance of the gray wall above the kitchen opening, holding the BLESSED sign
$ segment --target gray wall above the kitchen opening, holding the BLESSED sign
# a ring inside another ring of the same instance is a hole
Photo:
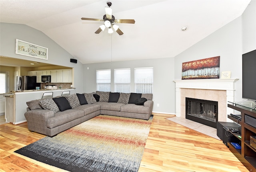
[[[70,63],[73,58],[60,45],[50,39],[43,32],[22,24],[0,23],[0,55],[16,59],[24,59],[53,65],[68,66],[74,68],[74,87],[77,92],[82,92],[81,71],[82,63]],[[42,47],[48,48],[48,60],[38,59],[15,54],[15,40],[20,39]]]

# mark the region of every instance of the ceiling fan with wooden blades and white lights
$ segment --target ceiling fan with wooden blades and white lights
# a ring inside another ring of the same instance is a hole
[[[104,22],[104,25],[100,25],[100,28],[96,30],[96,34],[100,33],[101,31],[104,31],[105,28],[108,28],[108,33],[113,33],[113,29],[119,34],[124,34],[120,29],[119,26],[114,23],[131,23],[134,24],[135,20],[133,19],[115,19],[115,17],[112,15],[112,8],[110,6],[112,5],[112,2],[107,1],[108,7],[105,7],[106,14],[103,16],[103,19],[94,19],[94,18],[81,18],[82,20],[93,20],[93,21],[100,21]]]

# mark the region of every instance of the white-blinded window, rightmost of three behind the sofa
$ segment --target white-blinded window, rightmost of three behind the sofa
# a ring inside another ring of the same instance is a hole
[[[134,92],[153,93],[153,67],[134,68]]]

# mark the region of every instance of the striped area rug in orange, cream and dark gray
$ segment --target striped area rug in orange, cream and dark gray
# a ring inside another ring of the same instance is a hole
[[[137,172],[152,118],[99,115],[15,152],[71,172]]]

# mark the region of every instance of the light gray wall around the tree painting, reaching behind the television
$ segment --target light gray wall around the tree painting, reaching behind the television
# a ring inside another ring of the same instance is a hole
[[[242,54],[256,49],[256,1],[244,14],[175,57],[175,79],[181,78],[182,63],[220,56],[220,72],[231,71],[235,101],[242,100]]]

